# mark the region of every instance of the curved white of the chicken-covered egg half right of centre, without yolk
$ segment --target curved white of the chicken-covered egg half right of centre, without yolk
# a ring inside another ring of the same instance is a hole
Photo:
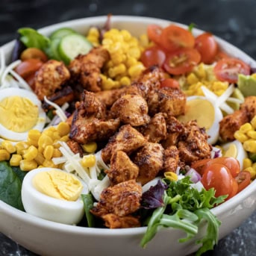
[[[213,145],[214,143],[216,143],[216,141],[219,138],[219,122],[223,118],[222,111],[219,109],[219,107],[216,106],[216,104],[214,104],[214,102],[212,102],[210,99],[207,99],[205,96],[190,96],[190,97],[187,97],[187,102],[193,99],[204,99],[213,105],[213,110],[214,110],[213,125],[211,125],[211,127],[206,131],[206,133],[209,135],[207,143]],[[198,110],[198,111],[199,111],[198,112],[199,116],[204,115],[204,110]]]

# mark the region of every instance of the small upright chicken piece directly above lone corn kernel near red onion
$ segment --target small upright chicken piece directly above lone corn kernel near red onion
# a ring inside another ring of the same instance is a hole
[[[164,150],[163,156],[163,172],[176,172],[180,157],[176,146],[169,146]]]

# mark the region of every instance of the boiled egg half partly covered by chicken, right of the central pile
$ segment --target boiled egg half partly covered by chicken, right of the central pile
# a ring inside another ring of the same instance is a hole
[[[201,128],[209,135],[207,142],[214,144],[219,138],[219,122],[223,118],[222,111],[205,96],[187,97],[184,115],[178,116],[181,122],[196,120]]]

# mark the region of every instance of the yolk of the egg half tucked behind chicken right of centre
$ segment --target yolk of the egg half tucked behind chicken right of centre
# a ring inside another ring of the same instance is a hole
[[[206,131],[213,125],[215,111],[213,104],[206,99],[192,99],[187,102],[184,116],[179,116],[181,122],[196,120],[199,127],[205,127]]]

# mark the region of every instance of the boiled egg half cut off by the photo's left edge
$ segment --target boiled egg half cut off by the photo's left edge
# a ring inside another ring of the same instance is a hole
[[[6,140],[26,140],[28,131],[42,131],[46,113],[36,94],[20,88],[0,90],[0,137]]]

